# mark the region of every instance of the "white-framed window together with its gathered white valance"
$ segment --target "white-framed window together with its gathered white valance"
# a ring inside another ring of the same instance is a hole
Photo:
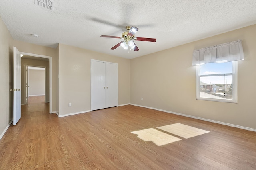
[[[196,99],[237,103],[237,61],[243,59],[239,39],[194,50]]]

